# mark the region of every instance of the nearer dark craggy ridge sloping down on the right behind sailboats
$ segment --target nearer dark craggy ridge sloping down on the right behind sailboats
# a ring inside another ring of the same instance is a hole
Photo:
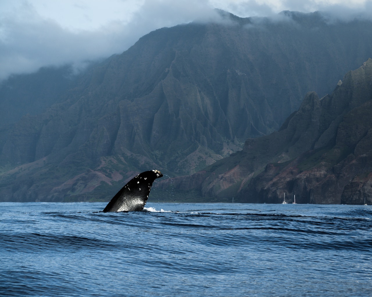
[[[372,59],[331,95],[309,92],[279,131],[248,139],[243,150],[172,180],[185,195],[248,203],[372,203]],[[169,187],[169,180],[163,187]]]

